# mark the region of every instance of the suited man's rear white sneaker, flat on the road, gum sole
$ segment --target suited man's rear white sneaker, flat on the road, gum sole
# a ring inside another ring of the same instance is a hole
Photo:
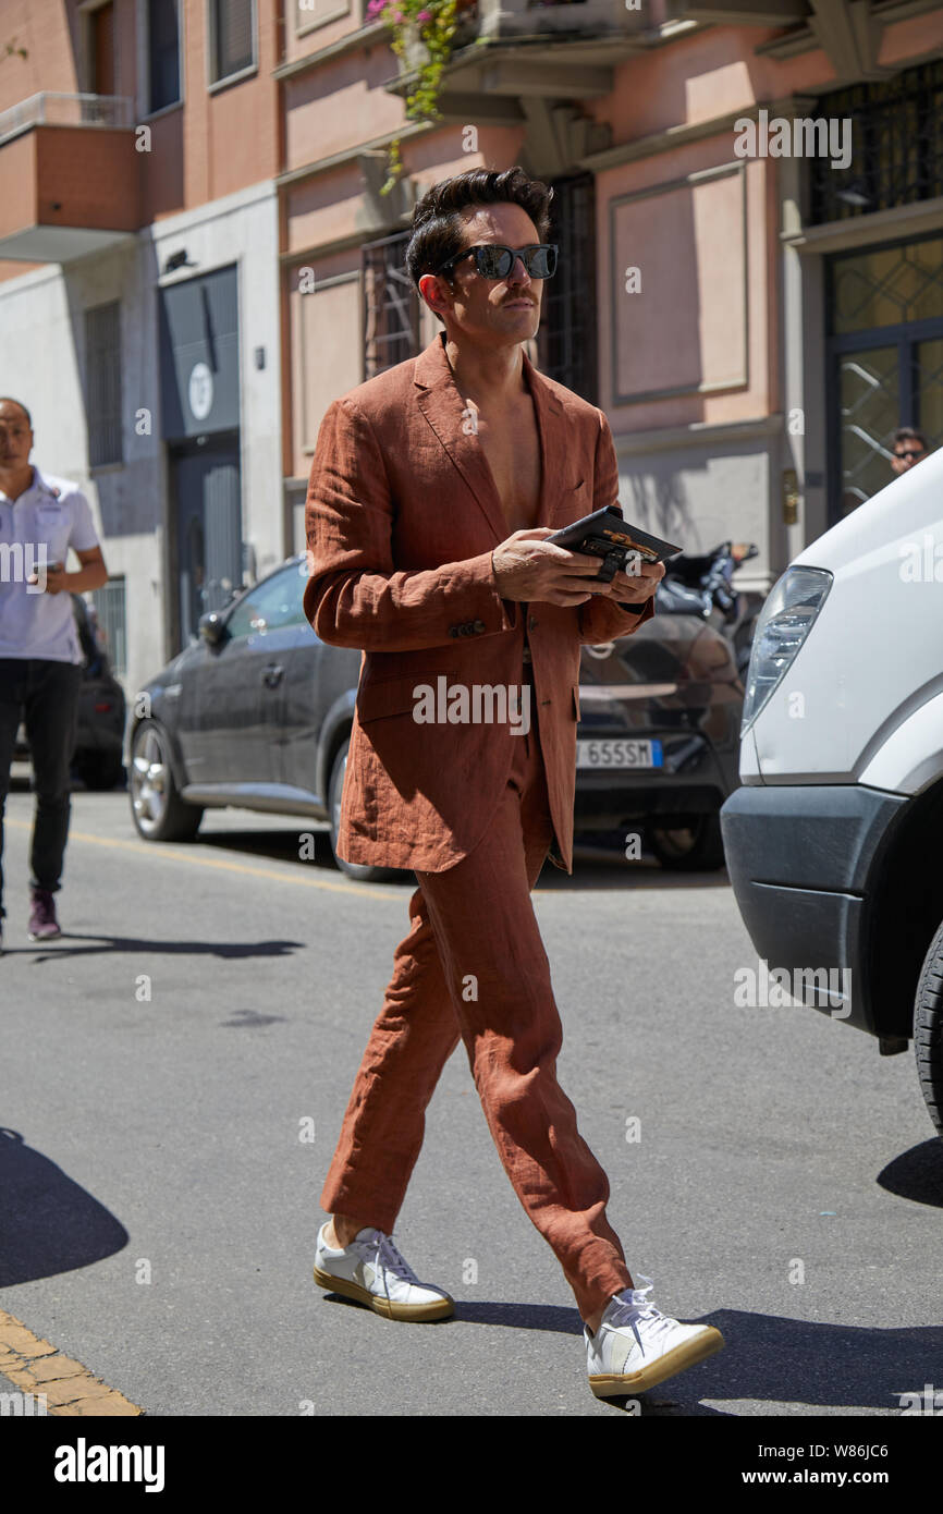
[[[368,1225],[344,1251],[324,1241],[327,1222],[318,1231],[315,1282],[347,1299],[369,1305],[387,1320],[442,1320],[454,1311],[454,1299],[442,1288],[419,1282],[392,1237]]]

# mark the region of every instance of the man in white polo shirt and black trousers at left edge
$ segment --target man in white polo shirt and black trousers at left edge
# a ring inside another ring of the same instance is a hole
[[[71,593],[98,589],[107,569],[85,495],[30,466],[33,431],[18,400],[0,398],[0,951],[3,805],[20,721],[33,760],[30,940],[59,936],[53,895],[70,819],[70,766],[82,681]],[[82,563],[67,572],[70,547]]]

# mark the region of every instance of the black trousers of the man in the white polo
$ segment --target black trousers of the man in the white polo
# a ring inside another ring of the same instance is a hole
[[[3,907],[3,808],[20,721],[32,759],[36,813],[30,851],[30,886],[54,893],[68,839],[70,768],[79,713],[79,663],[48,657],[0,657],[0,919]]]

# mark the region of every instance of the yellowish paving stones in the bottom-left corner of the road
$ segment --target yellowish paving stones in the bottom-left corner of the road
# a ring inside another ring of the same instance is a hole
[[[32,1399],[26,1414],[144,1414],[117,1388],[95,1378],[80,1361],[64,1357],[48,1340],[0,1310],[0,1373]],[[36,1402],[38,1400],[38,1402]]]

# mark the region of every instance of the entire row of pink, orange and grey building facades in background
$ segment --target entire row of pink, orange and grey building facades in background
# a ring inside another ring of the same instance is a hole
[[[92,501],[130,692],[304,548],[327,406],[437,330],[412,206],[469,167],[554,186],[531,356],[639,524],[758,544],[743,587],[898,425],[943,442],[943,5],[463,0],[412,121],[366,3],[0,0],[0,392]]]

